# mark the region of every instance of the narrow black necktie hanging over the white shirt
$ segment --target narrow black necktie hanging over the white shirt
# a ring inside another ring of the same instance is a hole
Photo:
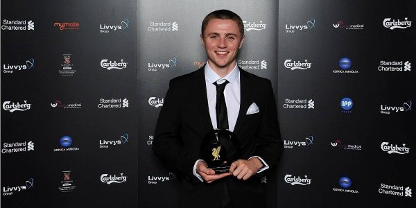
[[[216,94],[216,116],[217,116],[217,128],[225,128],[228,129],[228,114],[227,114],[227,105],[225,105],[225,97],[224,97],[224,89],[225,85],[227,85],[229,81],[225,80],[224,83],[218,84],[217,82],[214,83],[217,94]]]

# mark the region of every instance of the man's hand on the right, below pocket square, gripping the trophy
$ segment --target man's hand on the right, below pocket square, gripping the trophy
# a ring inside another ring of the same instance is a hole
[[[262,166],[263,164],[261,164],[260,159],[257,157],[239,159],[231,164],[229,173],[239,180],[248,180],[252,175],[256,174]]]

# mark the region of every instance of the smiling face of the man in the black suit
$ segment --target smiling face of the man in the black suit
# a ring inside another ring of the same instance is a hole
[[[244,41],[234,20],[209,20],[201,39],[212,69],[227,71],[234,68],[237,53]]]

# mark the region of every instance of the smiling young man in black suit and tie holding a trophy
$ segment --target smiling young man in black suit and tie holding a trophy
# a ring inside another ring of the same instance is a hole
[[[181,208],[264,207],[258,173],[275,166],[282,151],[270,80],[236,64],[244,42],[239,15],[229,10],[209,13],[200,36],[208,62],[171,80],[153,150],[184,177]],[[216,128],[234,132],[241,144],[241,157],[227,173],[215,174],[201,156],[202,138]]]

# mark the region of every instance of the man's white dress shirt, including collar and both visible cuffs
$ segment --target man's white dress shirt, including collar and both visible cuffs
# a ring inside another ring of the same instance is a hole
[[[240,103],[241,103],[241,87],[240,87],[240,69],[236,66],[232,69],[231,72],[227,74],[227,76],[221,78],[215,73],[214,70],[209,67],[209,64],[205,64],[205,85],[207,87],[207,98],[208,98],[208,108],[209,108],[209,117],[211,117],[212,127],[214,129],[217,128],[216,123],[216,86],[214,85],[215,82],[221,84],[224,80],[229,81],[227,85],[225,85],[224,89],[224,98],[225,98],[225,105],[227,105],[227,116],[228,116],[228,128],[230,131],[234,131],[234,127],[236,126],[237,117],[239,116],[240,112]],[[257,156],[253,156],[257,157]],[[252,158],[252,157],[250,157]],[[249,159],[250,159],[249,158]],[[269,168],[268,164],[264,162],[261,157],[257,157],[263,162],[265,165],[261,168],[257,173],[265,171]],[[198,159],[195,164],[193,165],[193,175],[198,177],[200,181],[204,181],[202,176],[196,173],[196,164],[202,159]],[[203,161],[203,160],[202,160]]]

